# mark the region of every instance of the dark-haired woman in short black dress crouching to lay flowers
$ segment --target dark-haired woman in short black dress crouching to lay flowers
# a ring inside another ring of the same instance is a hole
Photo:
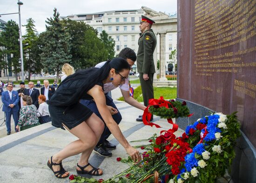
[[[80,99],[94,99],[99,112],[108,129],[125,148],[132,159],[141,161],[139,151],[133,148],[121,133],[105,101],[103,85],[112,82],[118,86],[128,77],[130,66],[125,59],[115,58],[107,61],[101,68],[91,68],[78,71],[68,76],[54,92],[52,98],[47,101],[52,124],[55,127],[67,129],[76,140],[68,144],[63,150],[52,156],[47,165],[58,178],[65,178],[69,172],[62,167],[62,160],[81,153],[77,163],[78,174],[99,176],[103,171],[94,168],[88,163],[88,159],[101,137],[104,123],[90,109],[79,103]]]

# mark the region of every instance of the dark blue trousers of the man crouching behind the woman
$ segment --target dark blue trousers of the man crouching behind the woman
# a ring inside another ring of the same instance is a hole
[[[106,96],[106,105],[112,106],[115,109],[117,109],[117,107],[115,106],[115,104],[113,102],[113,99],[110,98],[107,94],[105,94],[105,96]],[[87,106],[91,111],[93,111],[104,122],[104,120],[101,117],[101,114],[100,114],[100,112],[99,112],[99,110],[98,110],[98,108],[97,108],[97,106],[96,106],[96,104],[93,100],[80,100],[80,103],[82,105]],[[116,124],[119,124],[122,120],[122,116],[121,116],[119,111],[118,111],[117,114],[112,115],[112,118],[115,120]],[[100,145],[100,144],[103,144],[103,142],[111,135],[111,132],[109,131],[105,122],[104,122],[104,124],[105,124],[105,128],[104,128],[103,133],[101,134],[101,138],[100,138],[97,146]]]

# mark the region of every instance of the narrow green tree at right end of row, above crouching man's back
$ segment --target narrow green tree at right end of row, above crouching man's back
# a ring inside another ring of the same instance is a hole
[[[108,52],[107,59],[113,59],[115,56],[115,40],[111,36],[108,36],[105,30],[100,34],[100,38]]]

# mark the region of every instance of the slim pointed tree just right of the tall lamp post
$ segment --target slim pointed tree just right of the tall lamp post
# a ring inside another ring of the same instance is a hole
[[[24,51],[24,69],[28,71],[28,80],[30,81],[30,74],[40,72],[40,67],[33,58],[32,45],[37,39],[37,31],[35,29],[34,20],[29,18],[27,20],[26,34],[23,36],[23,51]]]

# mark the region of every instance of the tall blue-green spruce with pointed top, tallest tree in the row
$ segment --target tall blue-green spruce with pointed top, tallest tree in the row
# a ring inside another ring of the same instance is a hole
[[[41,34],[40,58],[44,71],[56,72],[57,81],[59,81],[62,65],[71,61],[70,36],[56,8],[54,8],[53,18],[47,18],[46,23],[46,31]]]

